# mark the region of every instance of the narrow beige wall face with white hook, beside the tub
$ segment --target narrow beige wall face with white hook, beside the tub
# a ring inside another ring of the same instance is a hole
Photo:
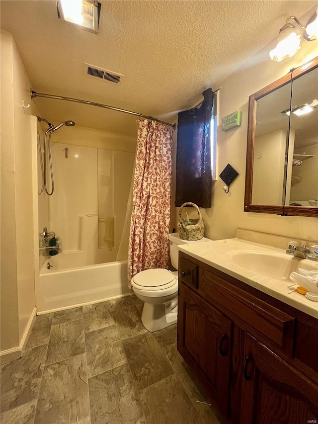
[[[31,110],[23,108],[31,104],[30,82],[15,43],[13,52],[13,101],[14,101],[14,150],[15,150],[15,216],[16,257],[18,282],[18,310],[20,342],[28,325],[33,308],[34,294],[34,244],[32,202],[32,145]]]

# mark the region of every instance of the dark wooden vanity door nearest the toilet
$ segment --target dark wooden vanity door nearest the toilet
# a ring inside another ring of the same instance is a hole
[[[232,322],[184,284],[179,286],[177,348],[228,416]]]

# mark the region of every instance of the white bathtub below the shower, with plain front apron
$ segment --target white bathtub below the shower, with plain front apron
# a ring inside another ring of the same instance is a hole
[[[52,256],[41,267],[35,289],[38,314],[131,293],[127,286],[127,260],[76,266],[78,261],[71,261],[72,255],[76,257],[72,253]],[[53,265],[51,269],[47,268],[48,262]]]

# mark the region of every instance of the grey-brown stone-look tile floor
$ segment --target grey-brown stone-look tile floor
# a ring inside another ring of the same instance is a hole
[[[36,317],[22,358],[1,366],[1,424],[216,424],[176,350],[148,333],[135,296]]]

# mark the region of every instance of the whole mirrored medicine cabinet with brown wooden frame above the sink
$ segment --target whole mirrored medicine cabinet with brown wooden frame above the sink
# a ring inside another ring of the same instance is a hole
[[[318,57],[249,97],[244,211],[318,217]]]

